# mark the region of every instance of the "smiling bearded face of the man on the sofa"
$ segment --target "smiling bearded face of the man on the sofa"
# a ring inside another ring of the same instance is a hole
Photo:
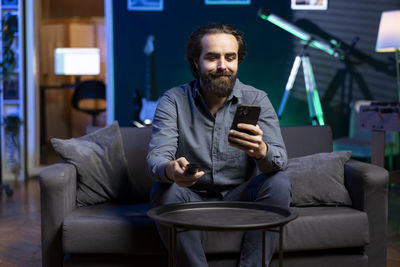
[[[206,34],[202,38],[202,53],[195,62],[202,89],[218,97],[228,97],[238,71],[239,45],[231,34]]]

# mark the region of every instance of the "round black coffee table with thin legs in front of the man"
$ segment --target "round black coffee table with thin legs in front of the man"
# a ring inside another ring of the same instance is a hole
[[[290,208],[256,202],[216,201],[168,204],[153,208],[147,215],[168,227],[168,265],[176,264],[177,228],[204,231],[261,230],[262,265],[265,265],[265,232],[279,233],[279,266],[283,266],[282,230],[297,218]]]

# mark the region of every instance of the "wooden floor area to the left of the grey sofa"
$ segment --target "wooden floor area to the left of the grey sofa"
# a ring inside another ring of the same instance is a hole
[[[13,196],[0,195],[0,266],[41,266],[39,182],[11,186]]]

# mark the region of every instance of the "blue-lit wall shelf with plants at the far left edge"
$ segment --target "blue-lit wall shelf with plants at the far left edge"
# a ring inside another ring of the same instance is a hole
[[[5,182],[15,179],[23,180],[25,177],[24,166],[25,166],[25,146],[24,146],[24,125],[17,126],[14,133],[16,137],[11,137],[10,131],[5,130],[5,123],[7,116],[17,116],[21,122],[24,121],[24,99],[23,99],[23,40],[19,33],[22,31],[22,15],[21,15],[21,0],[15,1],[17,4],[10,4],[4,1],[0,2],[0,19],[1,24],[7,23],[6,17],[9,23],[12,23],[8,27],[8,30],[16,29],[12,32],[12,45],[10,50],[14,53],[15,68],[10,74],[10,80],[4,81],[2,73],[0,73],[0,144],[1,144],[1,178],[0,182]],[[14,3],[14,2],[13,2]],[[16,23],[15,23],[16,22]],[[3,26],[2,26],[3,27]],[[2,29],[0,35],[0,62],[5,57],[5,41],[7,32]],[[9,117],[11,118],[11,117]],[[15,117],[13,117],[15,118]],[[13,124],[15,125],[15,124]],[[18,125],[18,124],[17,124]],[[15,128],[14,128],[15,129]]]

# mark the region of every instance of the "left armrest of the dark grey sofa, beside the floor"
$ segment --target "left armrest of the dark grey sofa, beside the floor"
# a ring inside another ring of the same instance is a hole
[[[61,227],[76,207],[76,182],[76,169],[68,163],[50,165],[39,175],[42,266],[62,266]]]

